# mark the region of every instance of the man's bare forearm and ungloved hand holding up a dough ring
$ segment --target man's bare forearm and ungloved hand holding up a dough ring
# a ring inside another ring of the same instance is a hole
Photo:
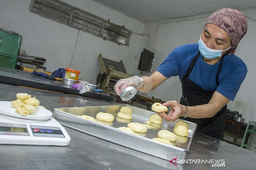
[[[211,100],[209,103],[204,105],[197,105],[197,106],[188,106],[189,114],[187,117],[191,118],[210,118],[213,117],[222,107],[224,107],[229,102],[225,96],[220,94],[219,92],[214,92],[212,95]],[[186,116],[187,109],[179,102],[172,100],[167,101],[163,104],[164,106],[171,106],[172,111],[166,115],[165,112],[159,112],[162,118],[166,121],[175,121],[180,116]]]

